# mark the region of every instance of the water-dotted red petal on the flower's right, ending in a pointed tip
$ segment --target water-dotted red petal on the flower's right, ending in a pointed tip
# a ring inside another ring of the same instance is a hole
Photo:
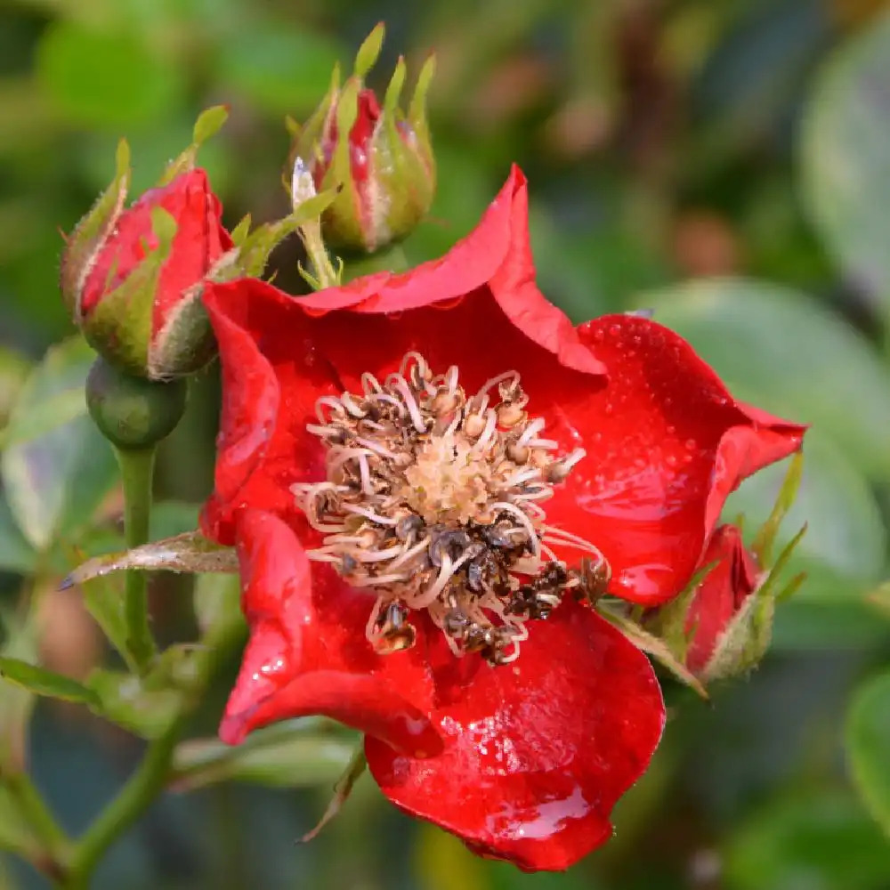
[[[547,522],[603,551],[612,593],[663,603],[692,575],[730,491],[797,450],[805,427],[734,401],[689,344],[652,321],[605,316],[578,332],[608,383],[554,382],[546,435],[587,457],[546,503]],[[562,555],[577,561],[578,551]]]

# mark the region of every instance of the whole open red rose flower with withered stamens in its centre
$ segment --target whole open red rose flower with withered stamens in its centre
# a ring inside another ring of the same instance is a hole
[[[251,630],[223,740],[331,716],[367,733],[402,810],[556,870],[610,837],[665,719],[590,603],[676,595],[726,495],[803,429],[650,320],[573,327],[527,222],[514,169],[406,274],[207,287],[223,420],[203,528],[239,548]]]

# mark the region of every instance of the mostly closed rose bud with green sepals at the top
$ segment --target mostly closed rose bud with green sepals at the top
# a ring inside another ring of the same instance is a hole
[[[335,70],[328,95],[309,121],[288,122],[294,135],[289,171],[298,164],[317,190],[340,189],[321,220],[328,245],[340,250],[373,253],[405,238],[433,202],[435,160],[426,123],[433,58],[420,71],[407,114],[399,107],[406,75],[401,58],[381,106],[364,77],[383,38],[380,24],[361,45],[346,84],[340,86]]]

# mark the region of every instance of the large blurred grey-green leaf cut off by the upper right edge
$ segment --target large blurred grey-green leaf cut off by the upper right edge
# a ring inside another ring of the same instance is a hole
[[[805,198],[829,251],[890,311],[890,14],[847,40],[805,113]]]

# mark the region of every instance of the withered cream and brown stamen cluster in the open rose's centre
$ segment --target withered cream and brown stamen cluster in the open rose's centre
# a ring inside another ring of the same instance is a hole
[[[609,563],[590,542],[546,524],[542,503],[585,452],[558,455],[531,418],[516,371],[467,397],[458,368],[433,375],[409,352],[380,383],[323,396],[318,424],[325,481],[292,490],[321,546],[308,551],[355,587],[373,588],[368,640],[378,652],[415,642],[410,611],[425,610],[456,655],[491,665],[519,656],[530,619],[546,619],[566,592],[602,595]],[[583,552],[570,569],[553,546]]]

